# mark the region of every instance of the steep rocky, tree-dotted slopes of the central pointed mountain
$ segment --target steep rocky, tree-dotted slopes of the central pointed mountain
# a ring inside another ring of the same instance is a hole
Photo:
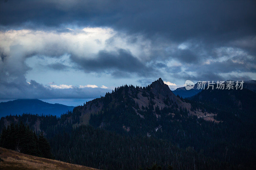
[[[147,87],[125,85],[105,97],[74,108],[77,124],[90,123],[94,127],[128,131],[145,135],[159,126],[161,116],[204,115],[200,110],[191,111],[191,104],[174,95],[159,78]],[[74,120],[71,119],[71,121]]]

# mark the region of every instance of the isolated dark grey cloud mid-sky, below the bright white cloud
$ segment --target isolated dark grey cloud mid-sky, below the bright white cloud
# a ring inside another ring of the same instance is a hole
[[[147,77],[149,74],[154,74],[156,71],[152,67],[147,67],[129,51],[124,49],[118,49],[115,52],[103,50],[100,51],[95,58],[80,58],[71,55],[71,59],[85,72],[107,71],[112,73],[115,77],[127,76],[129,73],[136,73],[140,76]]]

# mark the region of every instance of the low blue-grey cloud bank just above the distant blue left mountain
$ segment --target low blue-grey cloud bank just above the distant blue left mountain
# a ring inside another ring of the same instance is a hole
[[[29,83],[2,82],[0,83],[0,99],[43,99],[43,98],[98,98],[109,92],[103,88],[69,88],[53,89],[31,80]]]

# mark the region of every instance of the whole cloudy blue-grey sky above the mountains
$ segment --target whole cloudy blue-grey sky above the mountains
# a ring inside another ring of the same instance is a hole
[[[256,79],[256,1],[0,1],[0,99]]]

